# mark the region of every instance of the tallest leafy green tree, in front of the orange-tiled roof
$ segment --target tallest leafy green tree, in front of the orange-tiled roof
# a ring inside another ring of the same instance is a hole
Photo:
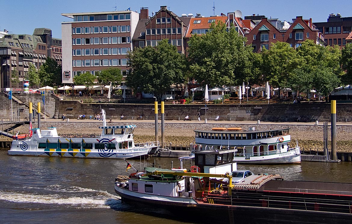
[[[190,78],[210,86],[239,85],[248,80],[252,48],[245,42],[247,39],[238,34],[233,24],[227,31],[221,21],[213,22],[205,34],[192,35],[188,41]]]

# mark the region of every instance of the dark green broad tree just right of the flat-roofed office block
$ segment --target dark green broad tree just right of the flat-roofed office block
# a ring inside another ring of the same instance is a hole
[[[126,78],[127,85],[135,90],[139,87],[160,99],[172,84],[184,81],[186,59],[177,53],[176,46],[168,44],[168,39],[159,41],[155,48],[136,48],[128,58],[131,72]]]

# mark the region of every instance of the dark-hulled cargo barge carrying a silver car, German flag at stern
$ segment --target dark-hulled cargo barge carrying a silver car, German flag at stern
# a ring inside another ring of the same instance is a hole
[[[195,152],[190,172],[145,167],[116,178],[115,192],[123,202],[166,209],[188,222],[351,223],[352,184],[286,181],[278,174],[250,175],[234,184],[233,153]]]

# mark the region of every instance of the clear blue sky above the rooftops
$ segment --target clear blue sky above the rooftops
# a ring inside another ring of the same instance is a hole
[[[170,11],[181,16],[183,13],[200,13],[204,16],[213,15],[213,2],[215,2],[215,15],[227,14],[239,9],[243,18],[246,15],[259,14],[268,18],[278,18],[291,22],[296,16],[304,19],[313,19],[314,22],[326,22],[330,13],[340,13],[342,17],[352,17],[351,0],[290,0],[290,1],[117,1],[117,0],[2,0],[0,4],[0,29],[7,29],[15,34],[32,34],[34,28],[50,28],[52,36],[61,38],[61,22],[70,21],[61,13],[74,12],[105,12],[131,10],[140,12],[140,7],[148,7],[149,14],[157,12],[160,6],[170,7]]]

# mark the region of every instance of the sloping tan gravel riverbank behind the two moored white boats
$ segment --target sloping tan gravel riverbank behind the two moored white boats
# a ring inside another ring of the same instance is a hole
[[[126,123],[109,123],[109,125],[125,125]],[[54,126],[57,127],[59,134],[100,134],[101,129],[98,127],[101,123],[93,122],[43,122],[42,129]],[[152,123],[138,123],[135,129],[134,140],[136,142],[146,142],[154,140],[154,124]],[[302,150],[322,150],[323,149],[323,126],[317,125],[231,125],[231,124],[165,124],[165,143],[172,145],[187,146],[194,142],[194,129],[210,130],[212,127],[242,127],[246,130],[249,127],[255,127],[256,130],[281,129],[290,127],[291,144],[295,144],[294,140],[298,140],[298,144]],[[14,130],[14,133],[27,133],[29,125],[23,125]],[[330,130],[329,130],[330,132]],[[159,124],[159,136],[161,135],[161,126]],[[330,139],[330,137],[329,137]],[[10,140],[10,138],[1,136],[0,140]],[[159,137],[159,140],[160,137]],[[337,150],[338,151],[352,151],[352,126],[338,126],[337,127]]]

